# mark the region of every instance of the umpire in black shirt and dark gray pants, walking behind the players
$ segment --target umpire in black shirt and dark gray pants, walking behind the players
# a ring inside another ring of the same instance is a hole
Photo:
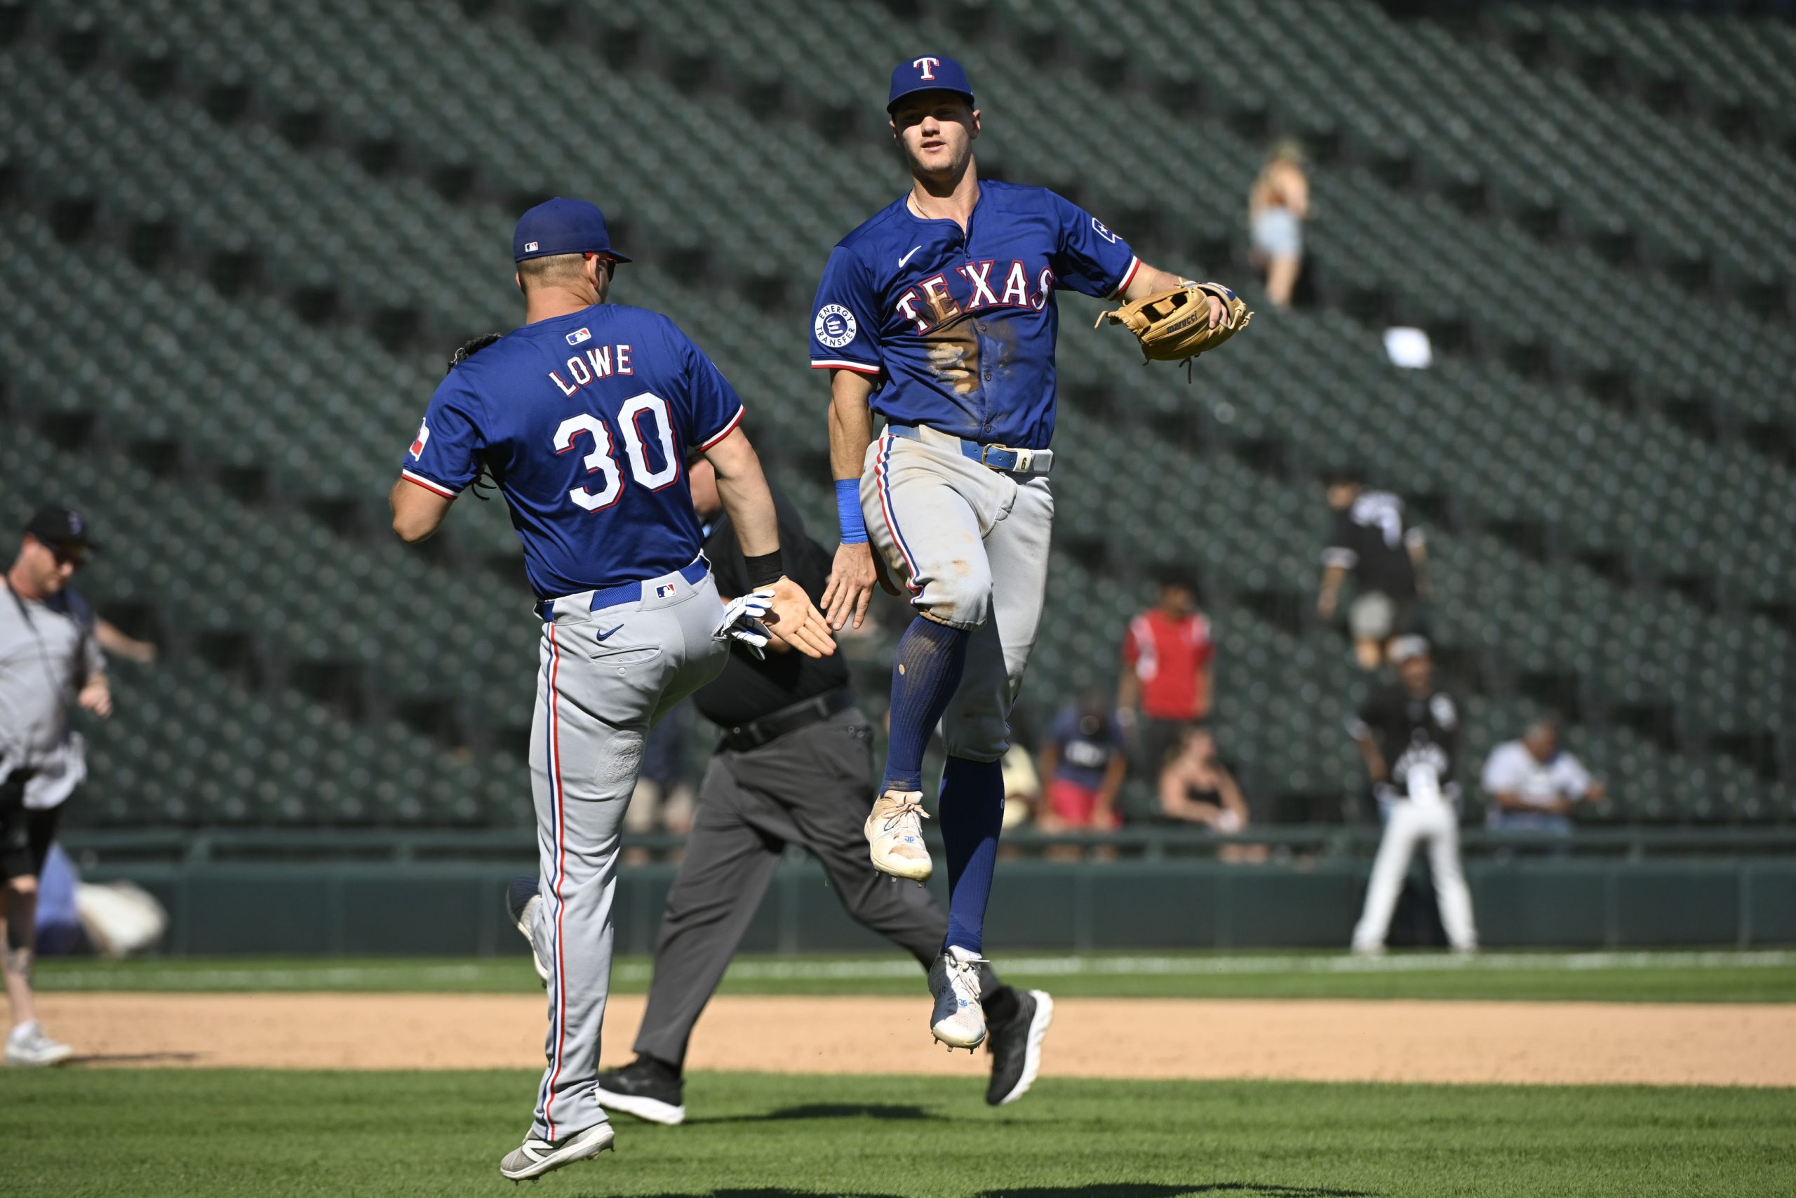
[[[693,462],[690,476],[718,593],[744,595],[747,566],[709,463]],[[778,489],[774,510],[787,573],[817,602],[830,555],[805,533]],[[778,638],[765,661],[733,647],[724,672],[693,702],[724,729],[724,740],[704,774],[686,857],[661,914],[636,1061],[598,1076],[600,1105],[666,1124],[686,1117],[681,1070],[693,1024],[787,844],[801,844],[823,862],[848,914],[902,947],[920,968],[941,956],[948,932],[948,916],[927,889],[878,873],[867,859],[862,823],[878,781],[873,727],[855,708],[841,656],[806,657]],[[1034,1081],[1054,1002],[1040,990],[1004,986],[990,965],[981,965],[981,975],[991,1053],[986,1101],[999,1106]]]

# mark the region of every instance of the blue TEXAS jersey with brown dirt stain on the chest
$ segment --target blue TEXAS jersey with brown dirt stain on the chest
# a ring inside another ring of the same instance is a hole
[[[1054,436],[1054,291],[1122,291],[1140,260],[1092,214],[1043,187],[979,181],[966,232],[882,208],[830,253],[810,365],[875,375],[873,411],[981,444]]]

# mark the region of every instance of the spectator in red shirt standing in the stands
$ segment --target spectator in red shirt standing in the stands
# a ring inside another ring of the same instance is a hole
[[[1211,717],[1214,656],[1211,621],[1198,611],[1194,587],[1180,575],[1166,575],[1158,603],[1128,625],[1117,681],[1117,717],[1135,727],[1146,778],[1158,778],[1178,736]]]

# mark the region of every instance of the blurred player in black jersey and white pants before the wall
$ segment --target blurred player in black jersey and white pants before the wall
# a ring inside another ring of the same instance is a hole
[[[1426,639],[1399,636],[1390,641],[1388,656],[1397,670],[1397,684],[1367,699],[1358,718],[1349,724],[1385,817],[1385,835],[1372,860],[1365,911],[1354,927],[1352,948],[1367,956],[1385,952],[1390,912],[1395,911],[1403,878],[1410,873],[1410,859],[1415,857],[1417,844],[1426,842],[1448,941],[1458,952],[1476,952],[1471,891],[1458,860],[1458,783],[1453,781],[1458,704],[1435,686]]]

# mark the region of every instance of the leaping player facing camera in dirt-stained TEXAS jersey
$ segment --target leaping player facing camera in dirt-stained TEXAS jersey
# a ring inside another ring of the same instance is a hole
[[[930,875],[921,769],[941,722],[948,934],[930,970],[930,1029],[973,1047],[986,1035],[975,965],[1004,810],[999,760],[1047,586],[1054,293],[1135,300],[1185,280],[1054,192],[981,180],[979,110],[954,59],[900,63],[887,111],[911,190],[837,242],[812,318],[842,528],[823,605],[835,629],[860,625],[878,569],[871,532],[918,609],[898,643],[866,832],[875,866]],[[1209,305],[1214,327],[1225,311]]]

